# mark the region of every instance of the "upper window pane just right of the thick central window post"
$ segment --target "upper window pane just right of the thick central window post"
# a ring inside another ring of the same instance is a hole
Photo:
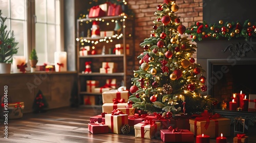
[[[46,0],[35,0],[35,15],[37,22],[46,22]]]

